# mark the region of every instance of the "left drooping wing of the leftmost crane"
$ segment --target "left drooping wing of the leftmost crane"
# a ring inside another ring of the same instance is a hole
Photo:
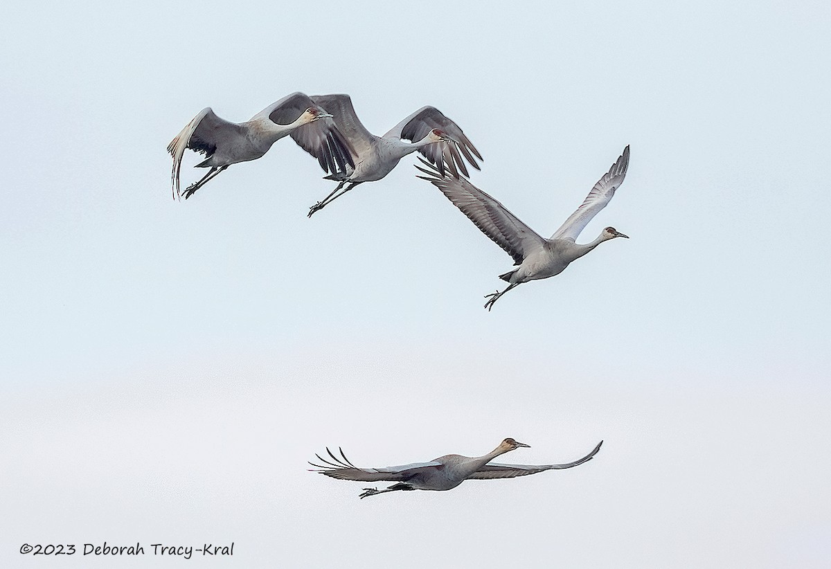
[[[243,125],[220,119],[210,107],[206,107],[194,116],[187,126],[167,145],[167,151],[173,156],[173,198],[179,197],[179,170],[182,169],[182,156],[185,149],[200,152],[210,158],[219,146],[234,145],[243,138],[247,130]]]

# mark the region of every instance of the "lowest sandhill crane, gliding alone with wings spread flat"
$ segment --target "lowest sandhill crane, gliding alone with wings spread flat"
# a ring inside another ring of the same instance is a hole
[[[514,478],[536,474],[543,470],[554,470],[558,468],[572,468],[583,464],[600,450],[603,441],[594,447],[593,451],[582,459],[566,464],[498,464],[491,460],[499,454],[507,453],[519,447],[528,447],[528,444],[518,443],[514,439],[504,439],[499,446],[488,454],[476,457],[461,456],[460,454],[445,454],[438,459],[426,463],[404,464],[402,466],[388,466],[386,468],[358,468],[347,459],[343,450],[338,448],[341,459],[338,459],[328,448],[326,452],[332,460],[323,459],[315,454],[323,464],[315,464],[312,472],[325,474],[332,478],[341,480],[358,480],[360,482],[396,482],[392,486],[378,490],[377,488],[364,488],[360,498],[375,496],[385,492],[396,490],[450,490],[459,486],[465,480],[490,480],[493,478]]]

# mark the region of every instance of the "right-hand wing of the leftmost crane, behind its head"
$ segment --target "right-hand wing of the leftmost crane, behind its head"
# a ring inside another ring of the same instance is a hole
[[[268,105],[255,116],[268,117],[277,125],[290,125],[307,109],[317,109],[324,114],[327,112],[316,105],[310,96],[297,92]],[[355,167],[349,143],[331,118],[324,117],[302,125],[294,129],[291,136],[297,145],[317,158],[324,172],[346,172],[347,164]]]

